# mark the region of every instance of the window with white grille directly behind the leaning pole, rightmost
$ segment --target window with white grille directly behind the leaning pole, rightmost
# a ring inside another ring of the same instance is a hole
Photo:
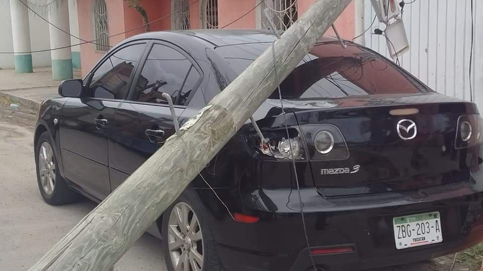
[[[287,30],[298,19],[297,0],[265,0],[260,7],[260,21],[263,29],[271,28],[264,14],[266,8],[271,10],[272,20],[277,30]]]

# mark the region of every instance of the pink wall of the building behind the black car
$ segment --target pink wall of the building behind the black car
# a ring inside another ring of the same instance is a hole
[[[144,33],[145,28],[139,27],[143,25],[143,21],[139,13],[132,8],[124,0],[105,0],[108,10],[109,34],[116,35],[110,38],[111,46],[118,44],[128,37]],[[298,0],[299,17],[307,10],[314,0]],[[94,40],[94,24],[93,24],[93,3],[94,0],[77,0],[77,13],[79,18],[79,35],[85,40]],[[202,0],[189,0],[190,5],[190,22],[191,29],[201,28],[200,20],[200,4]],[[218,25],[224,27],[235,21],[239,17],[245,15],[256,5],[257,0],[218,0]],[[172,0],[141,0],[141,5],[147,12],[148,21],[160,19],[150,25],[151,31],[170,30],[171,16],[174,11],[172,8]],[[259,13],[260,15],[260,13]],[[257,26],[257,9],[239,19],[227,28],[238,29],[254,29]],[[352,2],[342,15],[336,21],[336,27],[345,39],[352,39],[355,36],[354,28],[354,2]],[[136,28],[136,29],[135,29]],[[135,30],[133,30],[135,29]],[[132,30],[132,31],[131,31]],[[330,29],[326,35],[334,35]],[[94,44],[81,45],[81,65],[82,74],[86,75],[97,61],[105,54],[96,50]]]

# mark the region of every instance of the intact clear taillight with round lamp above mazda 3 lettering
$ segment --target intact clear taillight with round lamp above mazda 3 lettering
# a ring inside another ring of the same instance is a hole
[[[341,130],[333,124],[300,125],[307,144],[307,157],[312,161],[343,160],[349,149]]]

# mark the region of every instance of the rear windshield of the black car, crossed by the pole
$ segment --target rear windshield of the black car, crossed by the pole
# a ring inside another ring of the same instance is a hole
[[[313,99],[350,95],[403,94],[428,89],[370,50],[338,42],[316,45],[282,82],[283,99]],[[221,54],[237,73],[243,72],[271,43],[219,47]],[[278,91],[269,97],[278,98]]]

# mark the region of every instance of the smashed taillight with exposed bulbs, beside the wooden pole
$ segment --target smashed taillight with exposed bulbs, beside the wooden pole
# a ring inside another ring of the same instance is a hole
[[[264,159],[274,160],[305,160],[305,148],[303,140],[299,137],[298,128],[290,126],[277,129],[263,129],[265,141],[262,142],[258,134],[248,136],[249,145],[258,156]]]

